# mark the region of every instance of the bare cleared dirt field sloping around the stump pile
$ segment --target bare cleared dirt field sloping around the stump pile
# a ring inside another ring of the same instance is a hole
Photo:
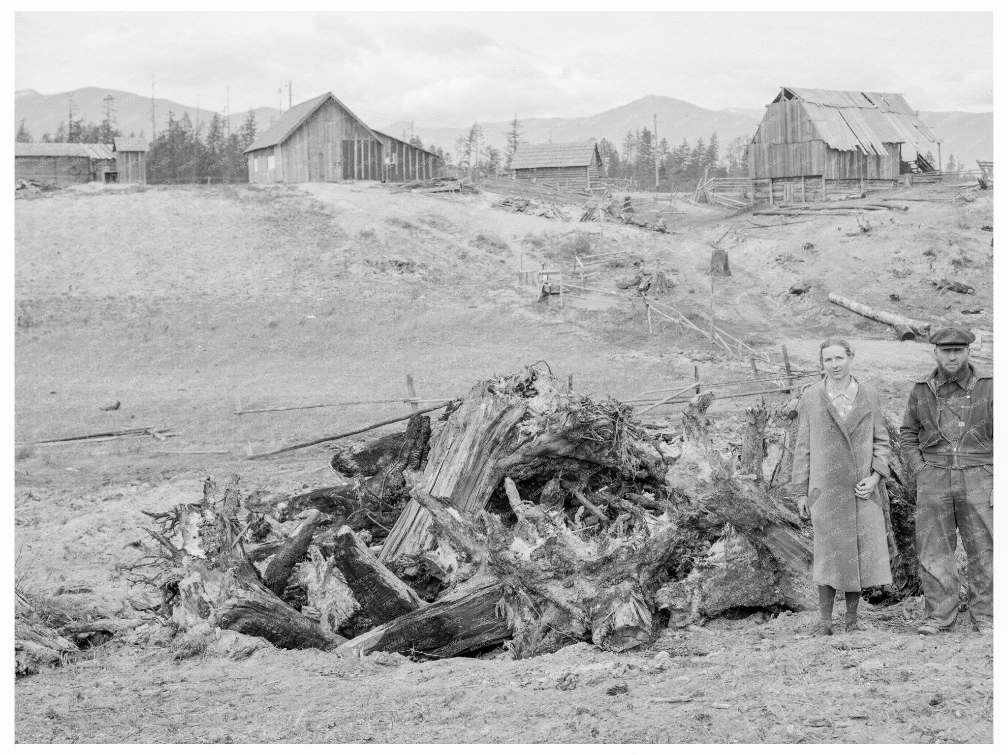
[[[563,222],[372,183],[86,187],[15,210],[16,580],[78,616],[138,615],[128,568],[150,548],[142,510],[198,498],[203,480],[293,491],[333,484],[331,445],[257,461],[249,450],[336,434],[408,411],[358,405],[423,398],[545,360],[575,390],[630,399],[692,382],[745,380],[671,323],[648,332],[640,306],[550,297],[516,272],[570,269],[580,250],[621,248],[672,284],[666,301],[779,359],[817,364],[839,333],[856,373],[895,417],[932,364],[926,343],[831,304],[836,291],[932,323],[993,330],[990,192],[915,188],[906,212],[780,219],[680,201],[662,235]],[[576,211],[576,210],[575,210]],[[577,217],[577,215],[575,215]],[[800,222],[795,220],[800,219]],[[760,225],[757,228],[757,225]],[[763,228],[763,226],[769,228]],[[853,234],[853,236],[848,236]],[[712,243],[732,277],[706,275]],[[633,270],[587,285],[613,290]],[[950,278],[973,295],[937,291]],[[810,286],[795,295],[796,283]],[[963,310],[979,310],[964,313]],[[687,331],[688,333],[688,331]],[[745,389],[742,386],[742,389]],[[768,403],[780,401],[768,395]],[[731,424],[755,399],[721,401]],[[117,411],[102,407],[121,403]],[[677,417],[668,407],[665,415]],[[163,441],[31,445],[136,427]],[[207,452],[222,453],[207,453]],[[199,453],[202,452],[202,453]],[[146,596],[149,597],[149,596]],[[695,632],[665,629],[641,651],[579,644],[552,655],[414,662],[287,651],[222,632],[194,654],[171,632],[133,633],[15,684],[18,742],[991,742],[993,645],[962,614],[918,637],[919,599],[863,603],[867,631],[809,636],[816,617],[754,613]],[[187,656],[186,656],[187,655]],[[570,680],[557,689],[557,682]],[[627,692],[609,694],[618,683]]]

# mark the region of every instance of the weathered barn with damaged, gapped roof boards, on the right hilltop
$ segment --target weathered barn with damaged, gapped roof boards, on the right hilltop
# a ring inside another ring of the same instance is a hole
[[[749,145],[749,175],[757,190],[822,199],[891,186],[901,159],[935,144],[902,95],[782,87]]]

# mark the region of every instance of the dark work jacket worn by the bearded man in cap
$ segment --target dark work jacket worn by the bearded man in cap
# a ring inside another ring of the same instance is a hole
[[[910,470],[924,464],[961,469],[994,463],[994,378],[970,362],[967,408],[958,437],[942,432],[937,394],[937,367],[917,381],[906,403],[899,445]]]

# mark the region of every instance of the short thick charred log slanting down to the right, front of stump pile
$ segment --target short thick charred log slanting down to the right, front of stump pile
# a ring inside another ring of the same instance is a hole
[[[361,610],[375,624],[414,611],[424,605],[420,597],[399,580],[349,526],[336,535],[333,561],[343,573]]]

